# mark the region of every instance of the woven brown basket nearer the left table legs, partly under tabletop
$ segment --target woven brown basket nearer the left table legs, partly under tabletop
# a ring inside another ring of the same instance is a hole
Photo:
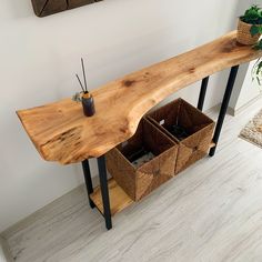
[[[129,155],[144,148],[154,158],[135,168]],[[179,145],[148,120],[142,119],[135,134],[107,153],[107,167],[117,183],[134,201],[141,200],[174,175]]]

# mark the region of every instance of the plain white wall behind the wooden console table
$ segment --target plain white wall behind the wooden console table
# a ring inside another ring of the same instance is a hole
[[[239,3],[104,0],[39,19],[30,2],[0,8],[0,231],[82,182],[79,165],[40,159],[16,110],[71,95],[81,56],[93,89],[215,39],[235,27]],[[225,77],[212,78],[206,108],[220,101]],[[194,87],[178,95],[195,103]]]

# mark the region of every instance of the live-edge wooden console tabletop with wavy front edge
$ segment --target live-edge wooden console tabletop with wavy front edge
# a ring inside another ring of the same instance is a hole
[[[135,132],[142,115],[173,92],[206,75],[262,56],[230,32],[190,52],[142,69],[92,91],[97,113],[64,99],[18,115],[44,160],[62,164],[100,157]]]

